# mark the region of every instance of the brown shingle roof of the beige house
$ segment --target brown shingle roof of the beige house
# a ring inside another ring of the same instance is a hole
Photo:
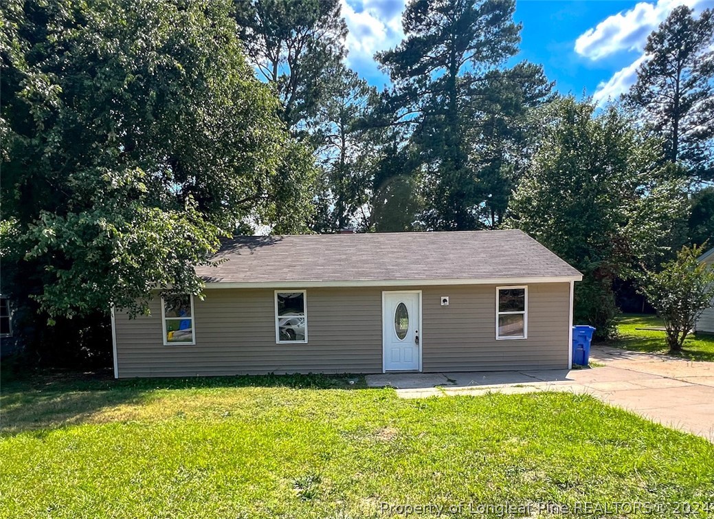
[[[209,283],[579,278],[521,231],[240,236],[225,241]]]

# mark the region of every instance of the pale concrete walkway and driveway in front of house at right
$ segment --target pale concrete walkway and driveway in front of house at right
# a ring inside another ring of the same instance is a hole
[[[714,442],[714,362],[593,347],[580,370],[481,373],[389,373],[367,376],[371,387],[392,386],[402,398],[535,391],[587,393],[675,429]]]

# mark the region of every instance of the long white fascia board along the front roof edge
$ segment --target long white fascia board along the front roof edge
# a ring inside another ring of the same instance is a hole
[[[238,281],[208,282],[206,288],[321,288],[356,286],[445,286],[445,285],[526,285],[528,283],[570,283],[583,276],[542,278],[464,278],[464,279],[377,279],[351,281]]]

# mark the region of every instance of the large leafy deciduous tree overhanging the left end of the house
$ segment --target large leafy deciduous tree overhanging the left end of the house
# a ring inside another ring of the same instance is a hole
[[[4,290],[52,318],[144,311],[153,288],[198,292],[193,266],[241,221],[304,228],[309,152],[243,59],[230,9],[4,3]]]

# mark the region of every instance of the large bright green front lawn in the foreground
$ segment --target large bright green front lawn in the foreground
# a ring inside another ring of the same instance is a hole
[[[576,503],[636,501],[706,517],[714,502],[714,445],[589,396],[403,400],[349,380],[5,382],[0,516],[378,518],[388,503],[473,518],[551,503],[602,517]]]

